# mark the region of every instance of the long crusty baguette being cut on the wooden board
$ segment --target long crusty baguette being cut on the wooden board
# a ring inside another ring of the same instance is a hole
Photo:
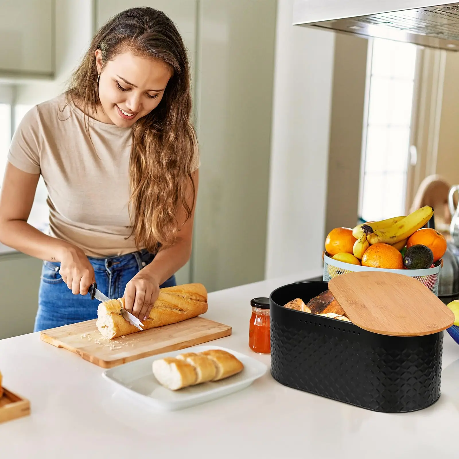
[[[97,328],[104,338],[113,339],[140,331],[123,318],[124,298],[103,302],[97,308]],[[149,317],[142,321],[144,330],[175,324],[207,312],[207,291],[202,284],[162,288]]]

